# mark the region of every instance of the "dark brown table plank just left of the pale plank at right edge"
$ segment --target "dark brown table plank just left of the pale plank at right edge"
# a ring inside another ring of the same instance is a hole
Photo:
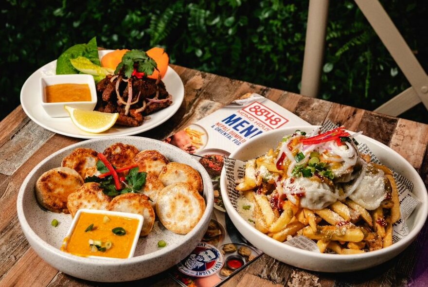
[[[397,121],[397,118],[366,111],[357,130],[362,130],[364,135],[388,145]]]

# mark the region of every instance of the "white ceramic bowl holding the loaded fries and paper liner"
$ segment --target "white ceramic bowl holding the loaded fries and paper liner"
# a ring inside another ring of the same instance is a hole
[[[265,154],[269,148],[276,147],[284,135],[292,134],[296,129],[311,132],[317,127],[295,126],[263,133],[241,145],[230,157],[242,161],[253,159]],[[225,169],[223,169],[220,178],[221,195],[226,211],[238,231],[255,247],[281,262],[303,269],[322,272],[348,272],[370,268],[390,260],[403,251],[416,238],[427,219],[427,189],[410,163],[391,148],[364,135],[359,135],[356,139],[360,143],[366,143],[383,164],[414,183],[413,194],[421,203],[406,221],[409,226],[409,234],[404,239],[381,250],[350,255],[316,253],[286,245],[256,230],[233,208],[227,192]]]

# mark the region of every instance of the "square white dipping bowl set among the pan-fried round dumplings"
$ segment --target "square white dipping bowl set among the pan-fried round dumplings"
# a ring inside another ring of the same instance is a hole
[[[73,221],[71,222],[70,229],[66,235],[66,238],[68,238],[68,240],[64,240],[62,248],[64,248],[64,249],[67,248],[67,245],[71,239],[71,234],[73,233],[74,228],[77,225],[77,221],[79,220],[80,215],[82,213],[100,214],[100,215],[107,215],[107,216],[111,215],[111,216],[137,219],[138,220],[138,226],[137,226],[137,229],[135,231],[134,239],[132,240],[131,249],[129,251],[127,258],[131,258],[134,256],[135,249],[137,248],[138,238],[140,237],[141,228],[143,227],[144,217],[143,217],[143,215],[139,215],[139,214],[117,212],[117,211],[96,210],[96,209],[79,209],[77,211],[76,215],[74,216]],[[87,256],[87,257],[89,257],[89,258],[102,258],[102,259],[107,259],[107,260],[121,260],[122,259],[122,258],[114,258],[114,257],[106,257],[106,256]]]

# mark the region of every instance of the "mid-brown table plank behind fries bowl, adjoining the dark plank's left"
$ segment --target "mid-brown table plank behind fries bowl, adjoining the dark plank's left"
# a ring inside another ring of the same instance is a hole
[[[333,104],[328,112],[327,119],[338,126],[345,126],[346,129],[357,131],[357,127],[364,116],[364,110],[340,104]]]

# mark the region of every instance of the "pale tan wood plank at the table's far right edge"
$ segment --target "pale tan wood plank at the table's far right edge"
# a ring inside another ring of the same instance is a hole
[[[427,149],[427,139],[428,125],[398,119],[389,146],[407,159],[414,168],[420,169]]]

